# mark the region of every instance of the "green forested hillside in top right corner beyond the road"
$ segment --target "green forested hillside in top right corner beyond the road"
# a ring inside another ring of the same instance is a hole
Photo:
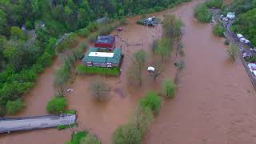
[[[256,46],[256,0],[236,0],[230,10],[238,14],[232,29],[243,34]]]

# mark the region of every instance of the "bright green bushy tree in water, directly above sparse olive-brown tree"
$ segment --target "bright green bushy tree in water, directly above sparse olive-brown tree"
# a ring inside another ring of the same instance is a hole
[[[158,114],[161,107],[162,99],[154,91],[150,91],[146,94],[144,98],[140,101],[140,106],[142,108],[150,108],[154,114]]]

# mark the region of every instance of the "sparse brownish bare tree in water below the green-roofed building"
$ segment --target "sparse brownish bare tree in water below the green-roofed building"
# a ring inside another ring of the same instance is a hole
[[[110,93],[110,86],[105,82],[102,82],[101,79],[95,79],[94,82],[90,85],[90,94],[98,101],[105,102]]]

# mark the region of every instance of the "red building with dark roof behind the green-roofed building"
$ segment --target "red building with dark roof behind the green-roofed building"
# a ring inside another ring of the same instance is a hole
[[[106,48],[108,50],[114,50],[115,47],[115,37],[114,36],[98,36],[95,47]]]

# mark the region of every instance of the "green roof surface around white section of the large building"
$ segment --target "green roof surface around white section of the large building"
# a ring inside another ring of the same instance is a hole
[[[120,58],[122,55],[122,49],[120,48],[114,48],[113,52],[114,56],[112,58],[110,57],[97,57],[97,56],[89,56],[90,52],[98,52],[99,48],[90,48],[88,53],[85,55],[85,57],[82,59],[82,62],[100,62],[100,63],[119,63]]]

